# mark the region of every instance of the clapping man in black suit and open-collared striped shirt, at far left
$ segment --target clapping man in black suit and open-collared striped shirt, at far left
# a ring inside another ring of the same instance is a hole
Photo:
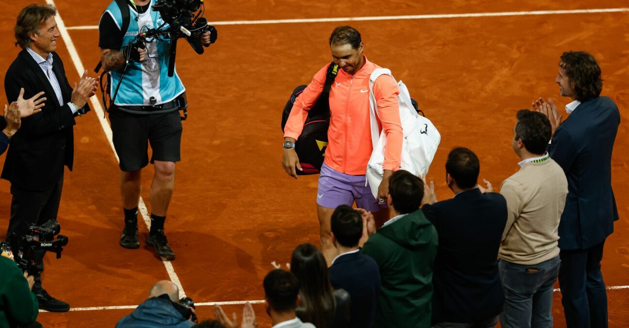
[[[11,140],[1,178],[11,182],[11,219],[8,239],[19,237],[28,225],[57,219],[64,166],[72,170],[74,159],[74,116],[89,110],[87,99],[96,92],[96,79],[87,71],[74,90],[65,77],[64,64],[55,53],[60,37],[53,6],[31,4],[22,9],[15,26],[16,45],[23,50],[4,78],[9,102],[45,92],[42,111],[23,118],[21,128]],[[39,254],[38,267],[43,270]],[[40,308],[65,312],[69,305],[42,288],[41,276],[33,286]]]

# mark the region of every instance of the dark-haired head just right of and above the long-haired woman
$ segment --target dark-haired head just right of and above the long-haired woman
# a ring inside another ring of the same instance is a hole
[[[340,205],[332,213],[332,240],[335,246],[356,247],[362,236],[362,216],[351,206]]]

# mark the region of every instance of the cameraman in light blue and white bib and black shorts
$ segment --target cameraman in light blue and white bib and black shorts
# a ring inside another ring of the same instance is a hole
[[[128,8],[112,1],[99,23],[101,63],[111,74],[110,91],[114,104],[109,110],[113,143],[120,157],[121,193],[125,212],[125,228],[120,246],[138,248],[138,201],[142,186],[142,168],[148,164],[148,143],[153,150],[151,163],[155,175],[151,185],[151,227],[147,244],[167,260],[175,258],[164,235],[164,221],[175,183],[175,162],[181,160],[180,108],[186,106],[186,89],[175,72],[167,76],[170,40],[147,38],[147,43],[130,45],[140,31],[164,24],[160,13],[151,7],[155,0],[127,0]],[[179,6],[176,4],[175,7]],[[129,12],[123,20],[123,12]],[[126,31],[121,29],[126,27]],[[201,35],[208,47],[210,32]],[[125,59],[131,60],[123,74]]]

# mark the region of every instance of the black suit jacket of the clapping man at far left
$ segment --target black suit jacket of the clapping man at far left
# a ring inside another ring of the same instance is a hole
[[[50,189],[61,178],[64,165],[72,171],[75,115],[67,105],[72,88],[60,57],[55,52],[52,55],[53,72],[64,101],[62,106],[59,106],[55,91],[42,69],[26,50],[19,52],[4,77],[4,91],[9,103],[18,99],[20,88],[25,89],[25,99],[40,91],[44,91],[47,98],[40,113],[22,119],[4,161],[0,178],[21,189]]]

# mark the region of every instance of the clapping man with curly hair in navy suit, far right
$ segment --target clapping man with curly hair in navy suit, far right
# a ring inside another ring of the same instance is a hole
[[[611,153],[620,112],[603,89],[601,68],[587,52],[564,52],[559,62],[561,95],[572,102],[562,123],[557,107],[539,98],[533,108],[550,119],[548,154],[564,169],[568,196],[559,223],[559,286],[568,327],[607,327],[607,292],[601,273],[605,239],[618,210],[611,189]]]

